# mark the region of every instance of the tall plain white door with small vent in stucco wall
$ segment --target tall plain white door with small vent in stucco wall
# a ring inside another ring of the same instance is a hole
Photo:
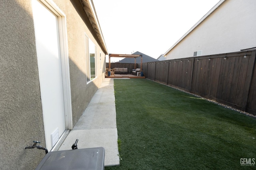
[[[65,131],[64,96],[58,17],[32,0],[46,148],[50,150]]]

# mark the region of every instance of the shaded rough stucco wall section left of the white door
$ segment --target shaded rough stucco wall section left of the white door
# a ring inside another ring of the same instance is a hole
[[[34,169],[45,152],[44,125],[30,1],[0,3],[0,166]]]

